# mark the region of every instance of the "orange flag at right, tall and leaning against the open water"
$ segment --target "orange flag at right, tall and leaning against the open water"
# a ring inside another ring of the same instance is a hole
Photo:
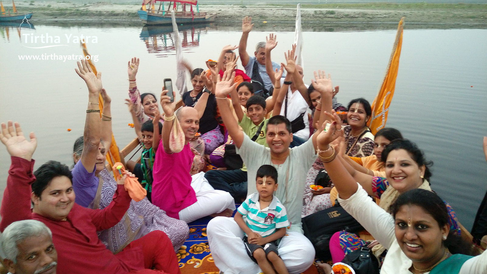
[[[369,119],[368,126],[375,135],[377,131],[384,128],[387,121],[387,115],[389,113],[389,106],[394,96],[395,79],[397,78],[397,70],[399,68],[399,57],[401,56],[402,47],[402,31],[404,17],[399,21],[397,27],[396,39],[394,41],[393,52],[389,65],[387,66],[386,76],[384,82],[380,87],[380,91],[375,97],[372,103],[372,117]]]

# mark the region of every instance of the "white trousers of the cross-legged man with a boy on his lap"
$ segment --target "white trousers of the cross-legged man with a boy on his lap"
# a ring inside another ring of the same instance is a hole
[[[208,223],[206,234],[216,267],[225,274],[257,274],[262,272],[245,251],[244,231],[233,218],[215,217]],[[315,259],[311,242],[299,232],[289,231],[278,246],[290,274],[308,269]]]

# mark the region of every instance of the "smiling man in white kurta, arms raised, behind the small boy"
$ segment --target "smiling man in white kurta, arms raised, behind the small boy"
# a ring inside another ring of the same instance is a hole
[[[331,80],[319,79],[319,88],[330,93]],[[278,246],[279,255],[290,274],[299,274],[308,269],[315,258],[315,250],[311,242],[302,234],[301,207],[307,171],[316,160],[315,134],[304,144],[289,149],[292,141],[290,123],[285,117],[277,116],[269,119],[266,129],[268,148],[253,142],[237,125],[226,103],[226,95],[233,89],[233,77],[225,75],[216,85],[216,96],[221,116],[232,136],[237,153],[247,166],[248,194],[257,191],[256,173],[263,164],[273,165],[278,171],[279,188],[275,195],[286,207],[291,226],[282,237]],[[323,94],[324,95],[324,94]],[[327,98],[322,95],[322,100]],[[324,115],[323,115],[324,117]],[[246,254],[243,242],[244,232],[233,218],[215,217],[207,226],[209,246],[215,265],[225,274],[257,274],[259,266]]]

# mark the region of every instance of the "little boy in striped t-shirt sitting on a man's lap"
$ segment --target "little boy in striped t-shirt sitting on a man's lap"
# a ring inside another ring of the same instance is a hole
[[[257,171],[258,192],[247,196],[235,214],[235,221],[245,232],[247,254],[265,274],[289,274],[279,257],[276,243],[289,226],[286,209],[273,195],[277,190],[277,176],[276,168],[262,165]]]

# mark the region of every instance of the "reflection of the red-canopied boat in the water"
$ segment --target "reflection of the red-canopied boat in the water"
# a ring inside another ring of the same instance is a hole
[[[178,28],[185,52],[192,52],[192,48],[200,45],[202,33],[206,34],[208,30],[216,29],[215,27],[210,28],[210,24],[201,24],[198,27],[183,25]],[[156,57],[168,57],[176,54],[172,26],[145,26],[142,28],[140,38],[146,44],[149,53],[162,53],[156,54]]]

